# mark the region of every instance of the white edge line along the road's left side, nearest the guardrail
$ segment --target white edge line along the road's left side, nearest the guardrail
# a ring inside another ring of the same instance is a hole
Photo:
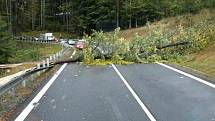
[[[76,51],[72,53],[72,58],[75,55]],[[34,97],[34,99],[28,104],[28,106],[19,114],[19,116],[15,119],[15,121],[24,121],[25,118],[28,116],[28,114],[32,111],[32,109],[35,107],[34,104],[37,104],[40,99],[43,97],[43,95],[47,92],[47,90],[51,87],[51,85],[54,83],[54,81],[57,79],[57,77],[60,75],[60,73],[64,70],[64,68],[68,65],[68,63],[65,63],[61,66],[61,68],[56,72],[56,74],[48,81],[48,83],[40,90],[40,92]]]

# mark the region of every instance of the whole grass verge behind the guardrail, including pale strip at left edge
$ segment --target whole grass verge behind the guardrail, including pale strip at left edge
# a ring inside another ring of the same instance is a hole
[[[57,44],[37,44],[20,41],[15,43],[14,56],[9,58],[9,63],[21,63],[21,65],[14,68],[0,69],[0,78],[34,67],[37,61],[45,59],[62,49],[62,46]]]

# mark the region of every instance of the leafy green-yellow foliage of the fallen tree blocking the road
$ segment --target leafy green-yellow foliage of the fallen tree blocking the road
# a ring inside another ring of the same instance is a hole
[[[207,13],[208,12],[208,13]],[[195,17],[195,24],[189,24],[189,19],[183,18],[181,22],[175,23],[175,28],[168,31],[163,29],[163,24],[150,24],[144,27],[147,31],[143,36],[136,34],[131,41],[127,41],[119,36],[119,29],[112,33],[93,31],[91,36],[85,39],[88,42],[87,49],[84,51],[84,63],[97,64],[99,55],[101,62],[156,62],[163,60],[178,60],[184,55],[198,52],[214,43],[215,19],[214,12],[207,11]],[[208,15],[204,15],[208,14]],[[97,44],[99,43],[99,44]],[[96,50],[95,49],[96,45]],[[97,46],[98,45],[98,46]],[[100,47],[103,48],[100,49]],[[104,51],[109,49],[108,54]],[[101,55],[103,54],[104,57]],[[108,56],[107,56],[108,55]],[[90,61],[89,61],[90,60]]]

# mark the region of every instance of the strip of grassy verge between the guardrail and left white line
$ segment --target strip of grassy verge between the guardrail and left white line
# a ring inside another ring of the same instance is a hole
[[[53,73],[52,69],[50,71]],[[44,72],[42,68],[30,71],[1,88],[0,119],[9,120],[10,114],[16,107],[29,98],[38,86],[50,77],[50,71]]]

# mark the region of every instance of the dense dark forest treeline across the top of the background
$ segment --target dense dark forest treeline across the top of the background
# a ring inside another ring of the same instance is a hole
[[[215,6],[215,0],[1,0],[0,15],[13,33],[31,30],[90,33]]]

